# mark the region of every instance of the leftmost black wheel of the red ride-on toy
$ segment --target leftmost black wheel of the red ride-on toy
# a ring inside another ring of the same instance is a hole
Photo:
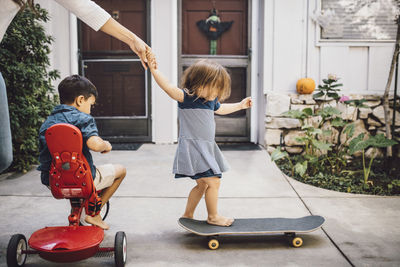
[[[24,235],[13,235],[8,242],[7,247],[7,266],[20,267],[24,266],[27,254],[22,253],[27,249],[26,238]]]

